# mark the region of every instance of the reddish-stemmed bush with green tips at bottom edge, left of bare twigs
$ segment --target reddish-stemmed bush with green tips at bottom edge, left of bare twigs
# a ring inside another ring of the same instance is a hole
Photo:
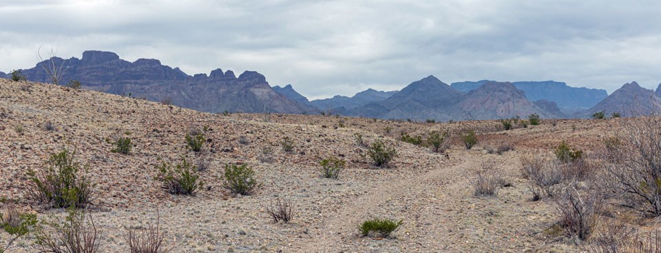
[[[40,252],[97,253],[103,233],[96,227],[92,215],[70,209],[64,221],[54,216],[41,221],[34,237]]]

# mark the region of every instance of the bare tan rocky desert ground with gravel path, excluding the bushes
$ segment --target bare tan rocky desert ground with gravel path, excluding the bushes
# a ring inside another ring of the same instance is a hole
[[[153,222],[156,211],[171,252],[581,252],[558,239],[558,216],[550,201],[531,201],[519,158],[550,153],[561,141],[602,152],[602,139],[620,119],[543,120],[541,125],[503,130],[499,121],[415,123],[381,119],[296,114],[210,114],[172,105],[74,90],[43,83],[0,79],[0,197],[19,199],[26,212],[63,216],[25,196],[28,168],[38,169],[50,154],[76,151],[96,184],[90,214],[102,230],[102,252],[127,252],[125,226]],[[45,130],[50,121],[55,130]],[[21,126],[22,131],[17,130]],[[185,143],[190,128],[208,128],[202,152]],[[448,130],[452,147],[435,153],[398,141],[400,132]],[[459,133],[474,130],[479,143],[466,150]],[[355,141],[385,139],[398,155],[390,168],[375,168]],[[110,150],[109,141],[130,136],[129,154]],[[241,136],[248,141],[240,143]],[[282,150],[284,137],[295,152]],[[489,154],[486,147],[509,143],[514,150]],[[260,161],[273,148],[273,163]],[[176,196],[154,179],[159,159],[209,159],[200,172],[204,188],[196,196]],[[319,161],[346,161],[339,179],[319,174]],[[220,183],[224,165],[251,166],[261,187],[237,196]],[[474,196],[470,183],[488,163],[508,187],[497,196]],[[264,212],[276,199],[291,199],[290,223],[274,223]],[[629,215],[613,211],[613,216]],[[390,237],[360,236],[366,219],[403,220]],[[653,219],[636,219],[651,227]],[[0,243],[9,235],[0,231]],[[14,242],[8,252],[35,252],[34,238]]]

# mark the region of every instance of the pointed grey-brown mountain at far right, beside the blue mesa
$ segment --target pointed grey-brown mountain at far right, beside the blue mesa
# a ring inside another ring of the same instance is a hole
[[[658,89],[657,89],[658,90]],[[578,117],[591,117],[595,112],[605,111],[607,115],[620,112],[622,117],[639,116],[661,110],[661,99],[653,90],[640,87],[635,81],[625,83],[622,88],[599,102]]]

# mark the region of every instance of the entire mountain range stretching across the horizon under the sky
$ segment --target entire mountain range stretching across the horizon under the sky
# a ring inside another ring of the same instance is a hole
[[[103,51],[85,51],[81,59],[52,57],[21,71],[30,81],[48,83],[45,68],[53,63],[65,70],[62,84],[77,80],[84,88],[131,94],[204,112],[324,111],[356,117],[448,121],[525,117],[533,113],[543,118],[589,117],[600,111],[628,116],[633,105],[639,105],[637,113],[653,112],[661,105],[661,84],[653,91],[636,82],[627,83],[608,95],[605,90],[574,88],[556,81],[481,80],[448,85],[434,76],[410,83],[400,91],[368,89],[353,97],[338,95],[308,101],[291,84],[271,87],[266,77],[254,71],[235,77],[231,70],[216,69],[208,76],[190,76],[156,59],[130,62]],[[9,74],[0,72],[0,77],[9,78]]]

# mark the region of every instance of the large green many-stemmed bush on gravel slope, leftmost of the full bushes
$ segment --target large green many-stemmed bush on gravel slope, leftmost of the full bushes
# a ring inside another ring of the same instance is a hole
[[[89,204],[94,185],[83,174],[87,168],[74,161],[75,154],[65,149],[51,154],[41,170],[28,169],[28,196],[53,208],[84,208]]]

